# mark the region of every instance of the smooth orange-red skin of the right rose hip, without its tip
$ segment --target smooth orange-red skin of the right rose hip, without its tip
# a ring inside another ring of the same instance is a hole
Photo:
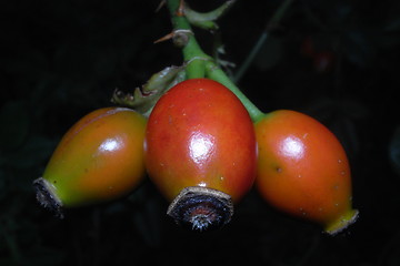
[[[337,137],[317,120],[280,110],[256,123],[257,187],[271,205],[324,225],[351,211],[351,177]]]

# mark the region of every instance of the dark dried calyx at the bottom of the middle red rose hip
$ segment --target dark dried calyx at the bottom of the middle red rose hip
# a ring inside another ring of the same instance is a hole
[[[167,214],[183,227],[197,231],[217,229],[233,215],[231,197],[220,191],[190,186],[170,204]]]

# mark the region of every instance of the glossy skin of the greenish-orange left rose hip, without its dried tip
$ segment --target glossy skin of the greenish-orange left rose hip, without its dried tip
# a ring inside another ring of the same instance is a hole
[[[103,108],[79,120],[53,152],[43,178],[62,206],[104,202],[131,192],[144,176],[146,119]]]

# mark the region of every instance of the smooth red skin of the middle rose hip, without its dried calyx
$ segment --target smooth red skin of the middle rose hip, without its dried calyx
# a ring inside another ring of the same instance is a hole
[[[187,186],[204,186],[238,201],[253,184],[256,164],[251,119],[226,86],[187,80],[156,104],[147,126],[146,166],[167,198]]]

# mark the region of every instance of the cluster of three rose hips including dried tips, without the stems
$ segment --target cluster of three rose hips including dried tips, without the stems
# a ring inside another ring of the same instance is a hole
[[[209,79],[174,85],[147,122],[129,109],[88,114],[33,184],[38,200],[62,216],[62,207],[128,194],[146,171],[171,202],[168,214],[200,231],[227,224],[254,181],[271,205],[330,234],[357,217],[348,160],[327,127],[286,110],[253,124],[240,100]]]

